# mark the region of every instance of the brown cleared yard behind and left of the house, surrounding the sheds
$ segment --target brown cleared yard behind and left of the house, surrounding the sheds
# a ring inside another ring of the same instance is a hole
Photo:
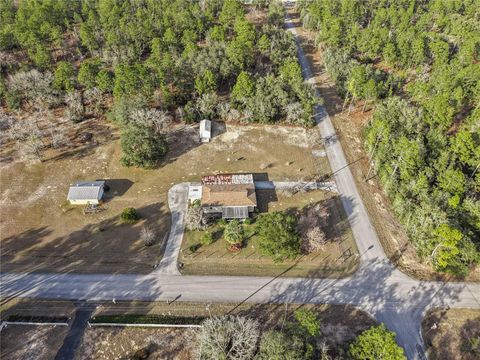
[[[216,172],[262,173],[270,180],[329,172],[318,155],[316,129],[216,123],[212,142],[200,144],[198,127],[176,125],[169,144],[167,158],[154,170],[123,167],[115,136],[104,145],[52,153],[41,163],[3,163],[1,270],[148,273],[161,258],[170,227],[166,201],[173,184]],[[111,188],[104,211],[85,215],[82,207],[66,204],[71,183],[95,179],[108,179]],[[135,207],[142,219],[121,224],[125,207]],[[140,240],[143,224],[157,233],[151,247]]]

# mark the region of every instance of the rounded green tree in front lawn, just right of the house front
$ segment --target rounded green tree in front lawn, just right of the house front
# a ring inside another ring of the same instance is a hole
[[[275,211],[259,216],[256,222],[260,252],[280,262],[292,259],[300,253],[300,237],[296,231],[296,219],[292,215]]]

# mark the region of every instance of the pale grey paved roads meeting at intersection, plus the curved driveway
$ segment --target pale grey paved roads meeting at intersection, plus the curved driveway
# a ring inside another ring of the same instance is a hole
[[[287,21],[290,31],[293,25]],[[312,81],[301,47],[299,59]],[[420,323],[432,307],[480,308],[480,284],[424,282],[396,270],[386,258],[358,194],[332,123],[317,107],[319,131],[360,251],[361,265],[345,279],[178,276],[176,256],[183,233],[185,184],[169,192],[172,231],[159,269],[149,275],[0,274],[3,297],[75,300],[172,300],[351,304],[385,322],[409,359],[422,357]],[[419,349],[419,350],[418,350]]]

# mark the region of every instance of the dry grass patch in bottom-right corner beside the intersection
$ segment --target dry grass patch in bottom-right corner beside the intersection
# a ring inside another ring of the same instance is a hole
[[[474,360],[480,358],[480,310],[430,310],[423,319],[422,334],[429,359]],[[474,342],[476,342],[475,351],[469,345]]]

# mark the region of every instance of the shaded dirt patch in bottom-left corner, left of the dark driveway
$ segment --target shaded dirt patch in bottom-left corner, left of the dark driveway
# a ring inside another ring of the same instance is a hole
[[[8,325],[1,331],[2,359],[53,359],[67,332],[67,326]]]

